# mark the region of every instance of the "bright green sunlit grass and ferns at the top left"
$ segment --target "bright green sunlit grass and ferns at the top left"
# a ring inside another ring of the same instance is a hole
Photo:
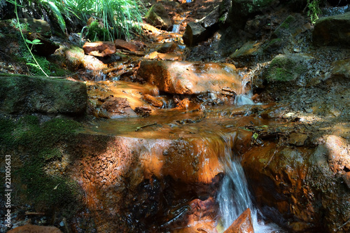
[[[28,1],[7,0],[17,6],[23,6]],[[87,22],[90,17],[102,19],[109,38],[132,38],[132,34],[140,31],[144,7],[139,0],[30,0],[36,8],[43,8],[55,15],[59,27],[66,31],[66,22],[76,19]]]

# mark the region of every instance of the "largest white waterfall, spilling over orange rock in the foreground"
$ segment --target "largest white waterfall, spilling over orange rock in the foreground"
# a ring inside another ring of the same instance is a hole
[[[217,196],[223,230],[228,229],[241,213],[249,208],[255,233],[279,232],[279,227],[276,225],[265,225],[264,222],[258,221],[258,210],[253,206],[241,161],[232,153],[229,146],[232,144],[231,139],[228,139],[227,136],[223,138],[226,141],[225,156],[222,161],[225,167],[225,177]]]

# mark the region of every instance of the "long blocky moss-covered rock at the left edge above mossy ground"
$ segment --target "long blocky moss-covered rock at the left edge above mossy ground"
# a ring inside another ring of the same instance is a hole
[[[8,114],[85,112],[84,83],[44,77],[0,77],[0,111]]]

